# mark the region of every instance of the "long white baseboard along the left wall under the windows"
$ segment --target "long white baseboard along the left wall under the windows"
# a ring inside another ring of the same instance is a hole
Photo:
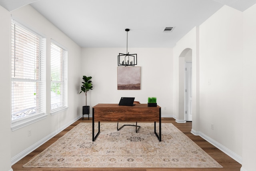
[[[28,147],[27,149],[25,149],[24,151],[20,152],[18,155],[12,157],[11,159],[11,165],[14,165],[15,163],[17,163],[18,161],[20,161],[23,157],[25,157],[26,155],[28,155],[29,153],[31,153],[32,151],[34,151],[35,149],[37,149],[38,147],[40,147],[42,144],[44,144],[46,141],[48,141],[49,139],[51,139],[52,137],[54,137],[55,135],[57,135],[58,133],[60,133],[61,131],[63,131],[64,129],[66,129],[68,126],[70,126],[72,123],[74,123],[75,121],[77,121],[78,119],[80,119],[81,116],[73,119],[72,121],[70,121],[69,123],[66,123],[66,125],[60,127],[59,129],[57,129],[56,131],[52,132],[51,134],[49,134],[48,136],[44,137],[43,139],[41,139],[40,141],[38,141],[37,143],[35,143],[34,145]]]

